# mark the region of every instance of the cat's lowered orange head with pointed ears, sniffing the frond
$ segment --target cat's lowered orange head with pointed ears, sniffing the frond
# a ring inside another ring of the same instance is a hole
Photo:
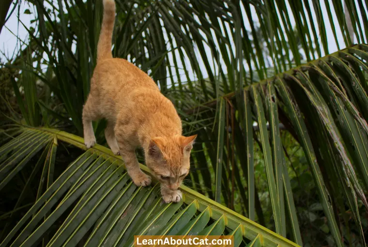
[[[197,135],[184,137],[156,137],[150,140],[145,152],[146,165],[158,181],[170,190],[176,190],[189,174],[190,151]]]

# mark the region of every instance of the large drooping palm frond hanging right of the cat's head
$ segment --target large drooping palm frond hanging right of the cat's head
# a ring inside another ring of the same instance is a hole
[[[364,246],[367,59],[367,45],[352,46],[183,112],[185,134],[199,134],[191,186],[301,245],[307,211],[296,208],[293,194],[312,183],[322,231],[337,246]],[[291,143],[304,161],[291,161]]]

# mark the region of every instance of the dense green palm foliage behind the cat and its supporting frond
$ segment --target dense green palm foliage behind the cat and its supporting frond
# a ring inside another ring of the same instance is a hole
[[[102,2],[26,4],[36,16],[30,37],[1,68],[3,128],[16,121],[82,135]],[[112,52],[153,77],[185,135],[199,134],[186,185],[299,245],[364,246],[367,7],[362,0],[117,1]],[[339,51],[328,55],[333,42]],[[94,123],[100,144],[104,127]],[[18,175],[14,184],[23,186],[27,174]],[[19,204],[8,194],[2,218],[35,201]]]

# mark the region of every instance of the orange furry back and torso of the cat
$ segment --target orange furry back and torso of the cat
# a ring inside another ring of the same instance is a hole
[[[92,91],[98,93],[98,107],[103,117],[131,130],[130,134],[125,133],[130,138],[139,131],[153,129],[178,134],[182,131],[172,102],[160,92],[151,77],[124,59],[98,62],[92,77]]]

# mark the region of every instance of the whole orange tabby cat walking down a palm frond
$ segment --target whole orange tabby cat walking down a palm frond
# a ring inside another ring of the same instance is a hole
[[[190,151],[197,135],[182,136],[182,122],[173,104],[151,77],[124,59],[112,58],[115,1],[103,2],[97,65],[83,107],[85,144],[90,148],[96,143],[92,121],[106,118],[107,144],[114,154],[122,155],[134,184],[151,184],[151,177],[140,170],[135,154],[141,147],[146,165],[161,183],[163,200],[178,202],[182,198],[178,188],[189,173]]]

